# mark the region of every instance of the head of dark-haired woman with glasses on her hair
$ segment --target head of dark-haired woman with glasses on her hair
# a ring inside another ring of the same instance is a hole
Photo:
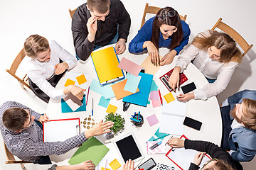
[[[159,47],[159,33],[163,35],[164,39],[172,38],[169,49],[173,50],[177,47],[183,38],[183,30],[181,26],[181,18],[178,12],[171,7],[161,8],[154,18],[151,42]]]

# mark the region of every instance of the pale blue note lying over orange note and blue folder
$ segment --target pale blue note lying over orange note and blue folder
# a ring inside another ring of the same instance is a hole
[[[141,76],[136,77],[132,74],[127,74],[127,83],[124,86],[124,90],[132,92],[134,94],[137,91],[141,78]]]

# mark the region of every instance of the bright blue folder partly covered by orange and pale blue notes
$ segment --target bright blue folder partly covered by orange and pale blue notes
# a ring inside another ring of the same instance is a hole
[[[146,73],[139,73],[142,79],[139,81],[139,92],[123,98],[123,102],[137,104],[139,106],[145,106],[149,99],[150,88],[153,80],[153,75]]]

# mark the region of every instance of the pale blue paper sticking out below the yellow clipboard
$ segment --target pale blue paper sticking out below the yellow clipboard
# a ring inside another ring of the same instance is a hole
[[[90,90],[95,91],[97,94],[104,96],[105,98],[112,98],[114,97],[114,91],[111,88],[112,84],[107,84],[105,86],[100,86],[99,81],[96,79],[92,80],[90,84]]]

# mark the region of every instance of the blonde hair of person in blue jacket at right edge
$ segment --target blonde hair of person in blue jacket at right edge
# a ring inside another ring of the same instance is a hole
[[[244,98],[242,100],[244,109],[242,110],[243,115],[241,116],[241,122],[246,128],[256,130],[256,101]]]

